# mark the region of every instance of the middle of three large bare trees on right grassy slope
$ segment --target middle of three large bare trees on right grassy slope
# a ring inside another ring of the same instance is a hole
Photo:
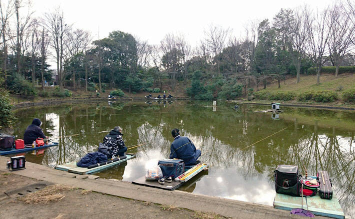
[[[333,23],[327,22],[326,18],[328,12],[328,8],[325,8],[322,11],[316,11],[315,16],[311,15],[311,13],[306,13],[306,15],[309,15],[309,17],[306,18],[308,34],[307,53],[315,64],[317,84],[320,83],[320,71],[325,62],[323,56],[326,54],[326,45],[330,35],[329,29],[333,25]]]

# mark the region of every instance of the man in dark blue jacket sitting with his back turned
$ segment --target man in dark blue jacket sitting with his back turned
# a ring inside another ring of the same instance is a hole
[[[174,141],[170,146],[170,159],[181,159],[185,162],[185,166],[196,165],[197,159],[201,156],[201,151],[196,150],[191,140],[185,136],[180,136],[180,130],[171,130]]]

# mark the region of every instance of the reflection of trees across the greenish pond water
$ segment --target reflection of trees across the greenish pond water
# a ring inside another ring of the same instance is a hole
[[[232,105],[219,104],[216,112],[213,112],[211,107],[204,107],[203,104],[185,105],[185,102],[174,102],[169,108],[142,104],[49,107],[17,112],[19,125],[15,133],[23,135],[34,117],[42,120],[45,119],[45,113],[59,115],[59,135],[67,137],[60,138],[59,146],[46,151],[40,161],[52,166],[74,161],[96,150],[107,134],[98,132],[111,130],[116,125],[123,128],[126,145],[145,142],[144,146],[130,152],[142,151],[142,154],[147,154],[158,149],[161,155],[167,157],[173,140],[170,131],[179,128],[181,135],[188,136],[201,149],[201,161],[215,169],[238,168],[245,178],[267,173],[272,182],[272,170],[279,164],[298,165],[301,172],[304,172],[304,164],[310,175],[320,169],[328,171],[334,182],[335,195],[345,212],[354,217],[350,209],[355,200],[353,130],[327,128],[319,125],[321,119],[304,124],[295,119],[298,117],[292,117],[292,113],[298,113],[310,118],[330,116],[353,121],[353,114],[287,108],[287,114],[281,114],[280,120],[272,121],[269,114],[252,113],[253,109],[255,107],[241,106],[239,111],[233,111]],[[48,119],[43,130],[53,130],[57,128],[56,125]],[[285,127],[288,128],[244,149]],[[82,135],[69,136],[78,133]]]

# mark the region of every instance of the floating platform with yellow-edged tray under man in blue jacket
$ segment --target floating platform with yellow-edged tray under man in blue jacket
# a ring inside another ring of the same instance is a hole
[[[145,176],[142,176],[132,181],[132,184],[171,191],[179,188],[185,182],[192,179],[194,176],[196,176],[198,173],[202,172],[203,170],[208,170],[208,165],[197,164],[196,166],[192,166],[191,169],[185,171],[179,177],[176,177],[175,180],[173,180],[171,183],[165,182],[164,184],[159,184],[157,181],[145,181]]]

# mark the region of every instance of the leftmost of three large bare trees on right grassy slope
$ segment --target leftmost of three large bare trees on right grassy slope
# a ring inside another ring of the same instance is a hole
[[[308,37],[307,23],[310,17],[307,7],[293,11],[293,19],[288,23],[290,29],[290,41],[288,43],[292,64],[296,68],[296,83],[300,81],[301,60],[306,49]]]

